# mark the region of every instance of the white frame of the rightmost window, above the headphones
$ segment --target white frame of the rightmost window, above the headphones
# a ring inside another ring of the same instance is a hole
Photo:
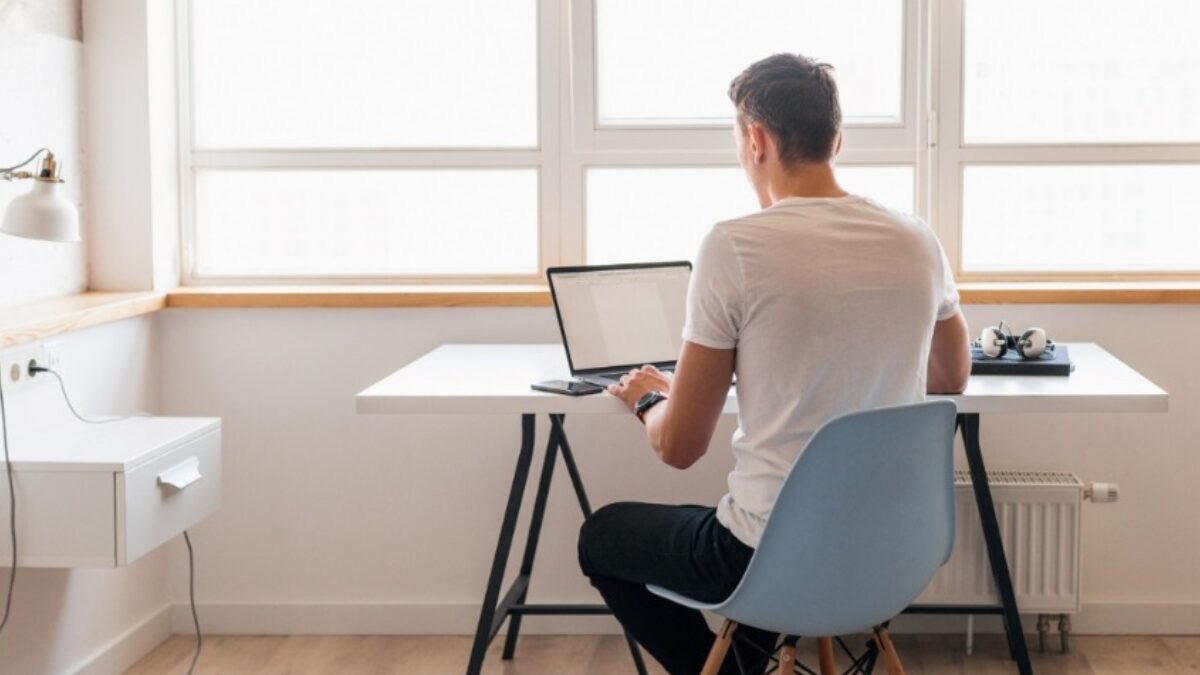
[[[1007,271],[966,273],[962,269],[962,173],[967,166],[988,165],[1158,165],[1200,163],[1200,144],[1192,143],[1025,143],[991,144],[966,143],[962,132],[964,113],[964,37],[966,0],[942,0],[935,17],[937,30],[931,62],[936,64],[934,78],[932,119],[937,120],[934,137],[934,162],[937,196],[930,214],[942,247],[950,258],[960,281],[1163,281],[1200,280],[1200,270],[1116,273],[1091,271]],[[943,110],[937,114],[936,110]]]

